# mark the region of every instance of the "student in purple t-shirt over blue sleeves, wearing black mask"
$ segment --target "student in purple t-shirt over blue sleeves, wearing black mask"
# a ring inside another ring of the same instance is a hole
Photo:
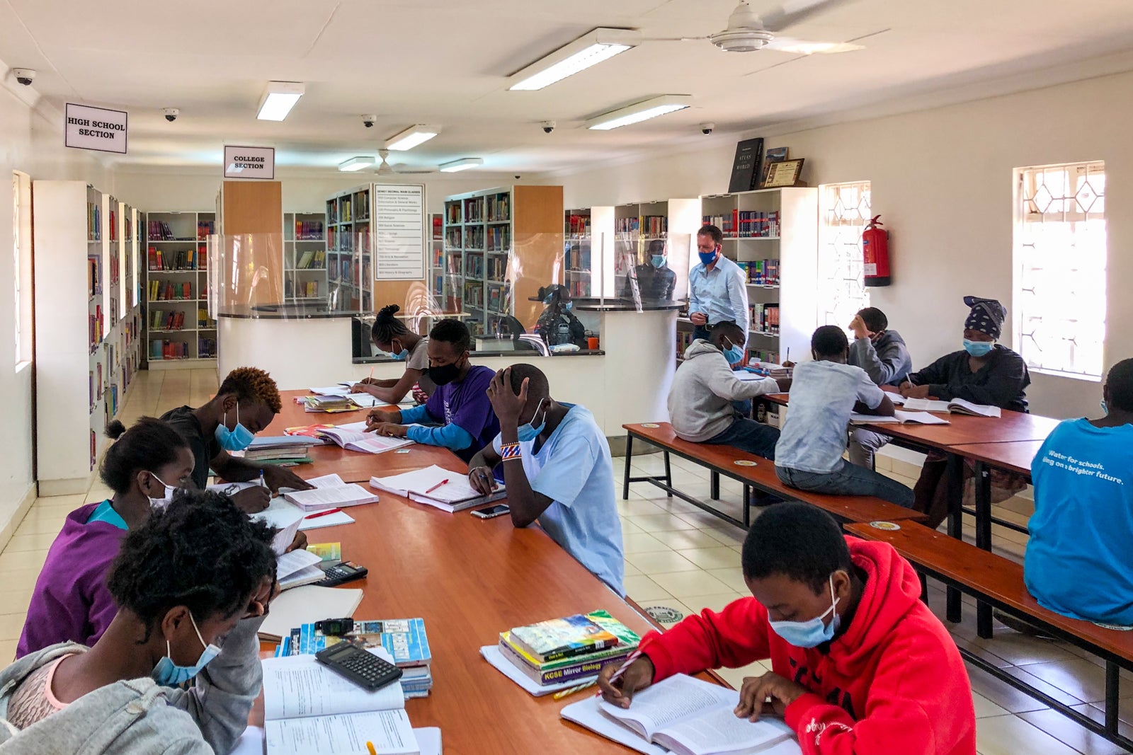
[[[366,418],[369,430],[449,448],[468,462],[500,431],[485,391],[492,370],[474,367],[468,351],[472,336],[460,320],[443,319],[429,331],[428,374],[437,389],[423,406],[401,411],[375,409]],[[421,424],[417,424],[421,423]],[[424,423],[440,427],[424,427]]]

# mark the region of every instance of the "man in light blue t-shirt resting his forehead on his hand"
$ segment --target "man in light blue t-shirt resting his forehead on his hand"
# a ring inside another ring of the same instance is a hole
[[[547,377],[513,364],[492,378],[500,435],[469,462],[468,482],[487,495],[503,466],[511,522],[535,522],[619,595],[625,573],[610,445],[585,406],[551,397]]]

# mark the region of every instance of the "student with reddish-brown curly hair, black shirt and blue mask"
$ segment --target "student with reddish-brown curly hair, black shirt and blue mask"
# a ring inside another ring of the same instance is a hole
[[[254,464],[229,454],[244,451],[257,432],[271,424],[282,403],[275,380],[255,367],[240,367],[228,374],[212,400],[193,409],[180,406],[161,415],[189,441],[195,466],[193,483],[208,484],[210,467],[229,482],[248,482],[263,474],[264,486],[254,486],[232,496],[242,511],[255,514],[267,508],[280,488],[308,490],[309,484],[289,469],[276,464]]]

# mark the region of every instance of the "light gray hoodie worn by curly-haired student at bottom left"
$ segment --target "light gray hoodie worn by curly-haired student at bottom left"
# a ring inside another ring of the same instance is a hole
[[[240,621],[188,690],[159,687],[150,678],[116,681],[18,730],[7,717],[19,683],[60,655],[88,647],[60,643],[25,655],[0,671],[0,755],[228,755],[259,694],[256,632],[263,621]]]

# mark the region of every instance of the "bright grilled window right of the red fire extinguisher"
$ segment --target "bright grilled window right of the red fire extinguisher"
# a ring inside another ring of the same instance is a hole
[[[1106,165],[1043,165],[1015,174],[1015,350],[1031,369],[1100,379]]]

